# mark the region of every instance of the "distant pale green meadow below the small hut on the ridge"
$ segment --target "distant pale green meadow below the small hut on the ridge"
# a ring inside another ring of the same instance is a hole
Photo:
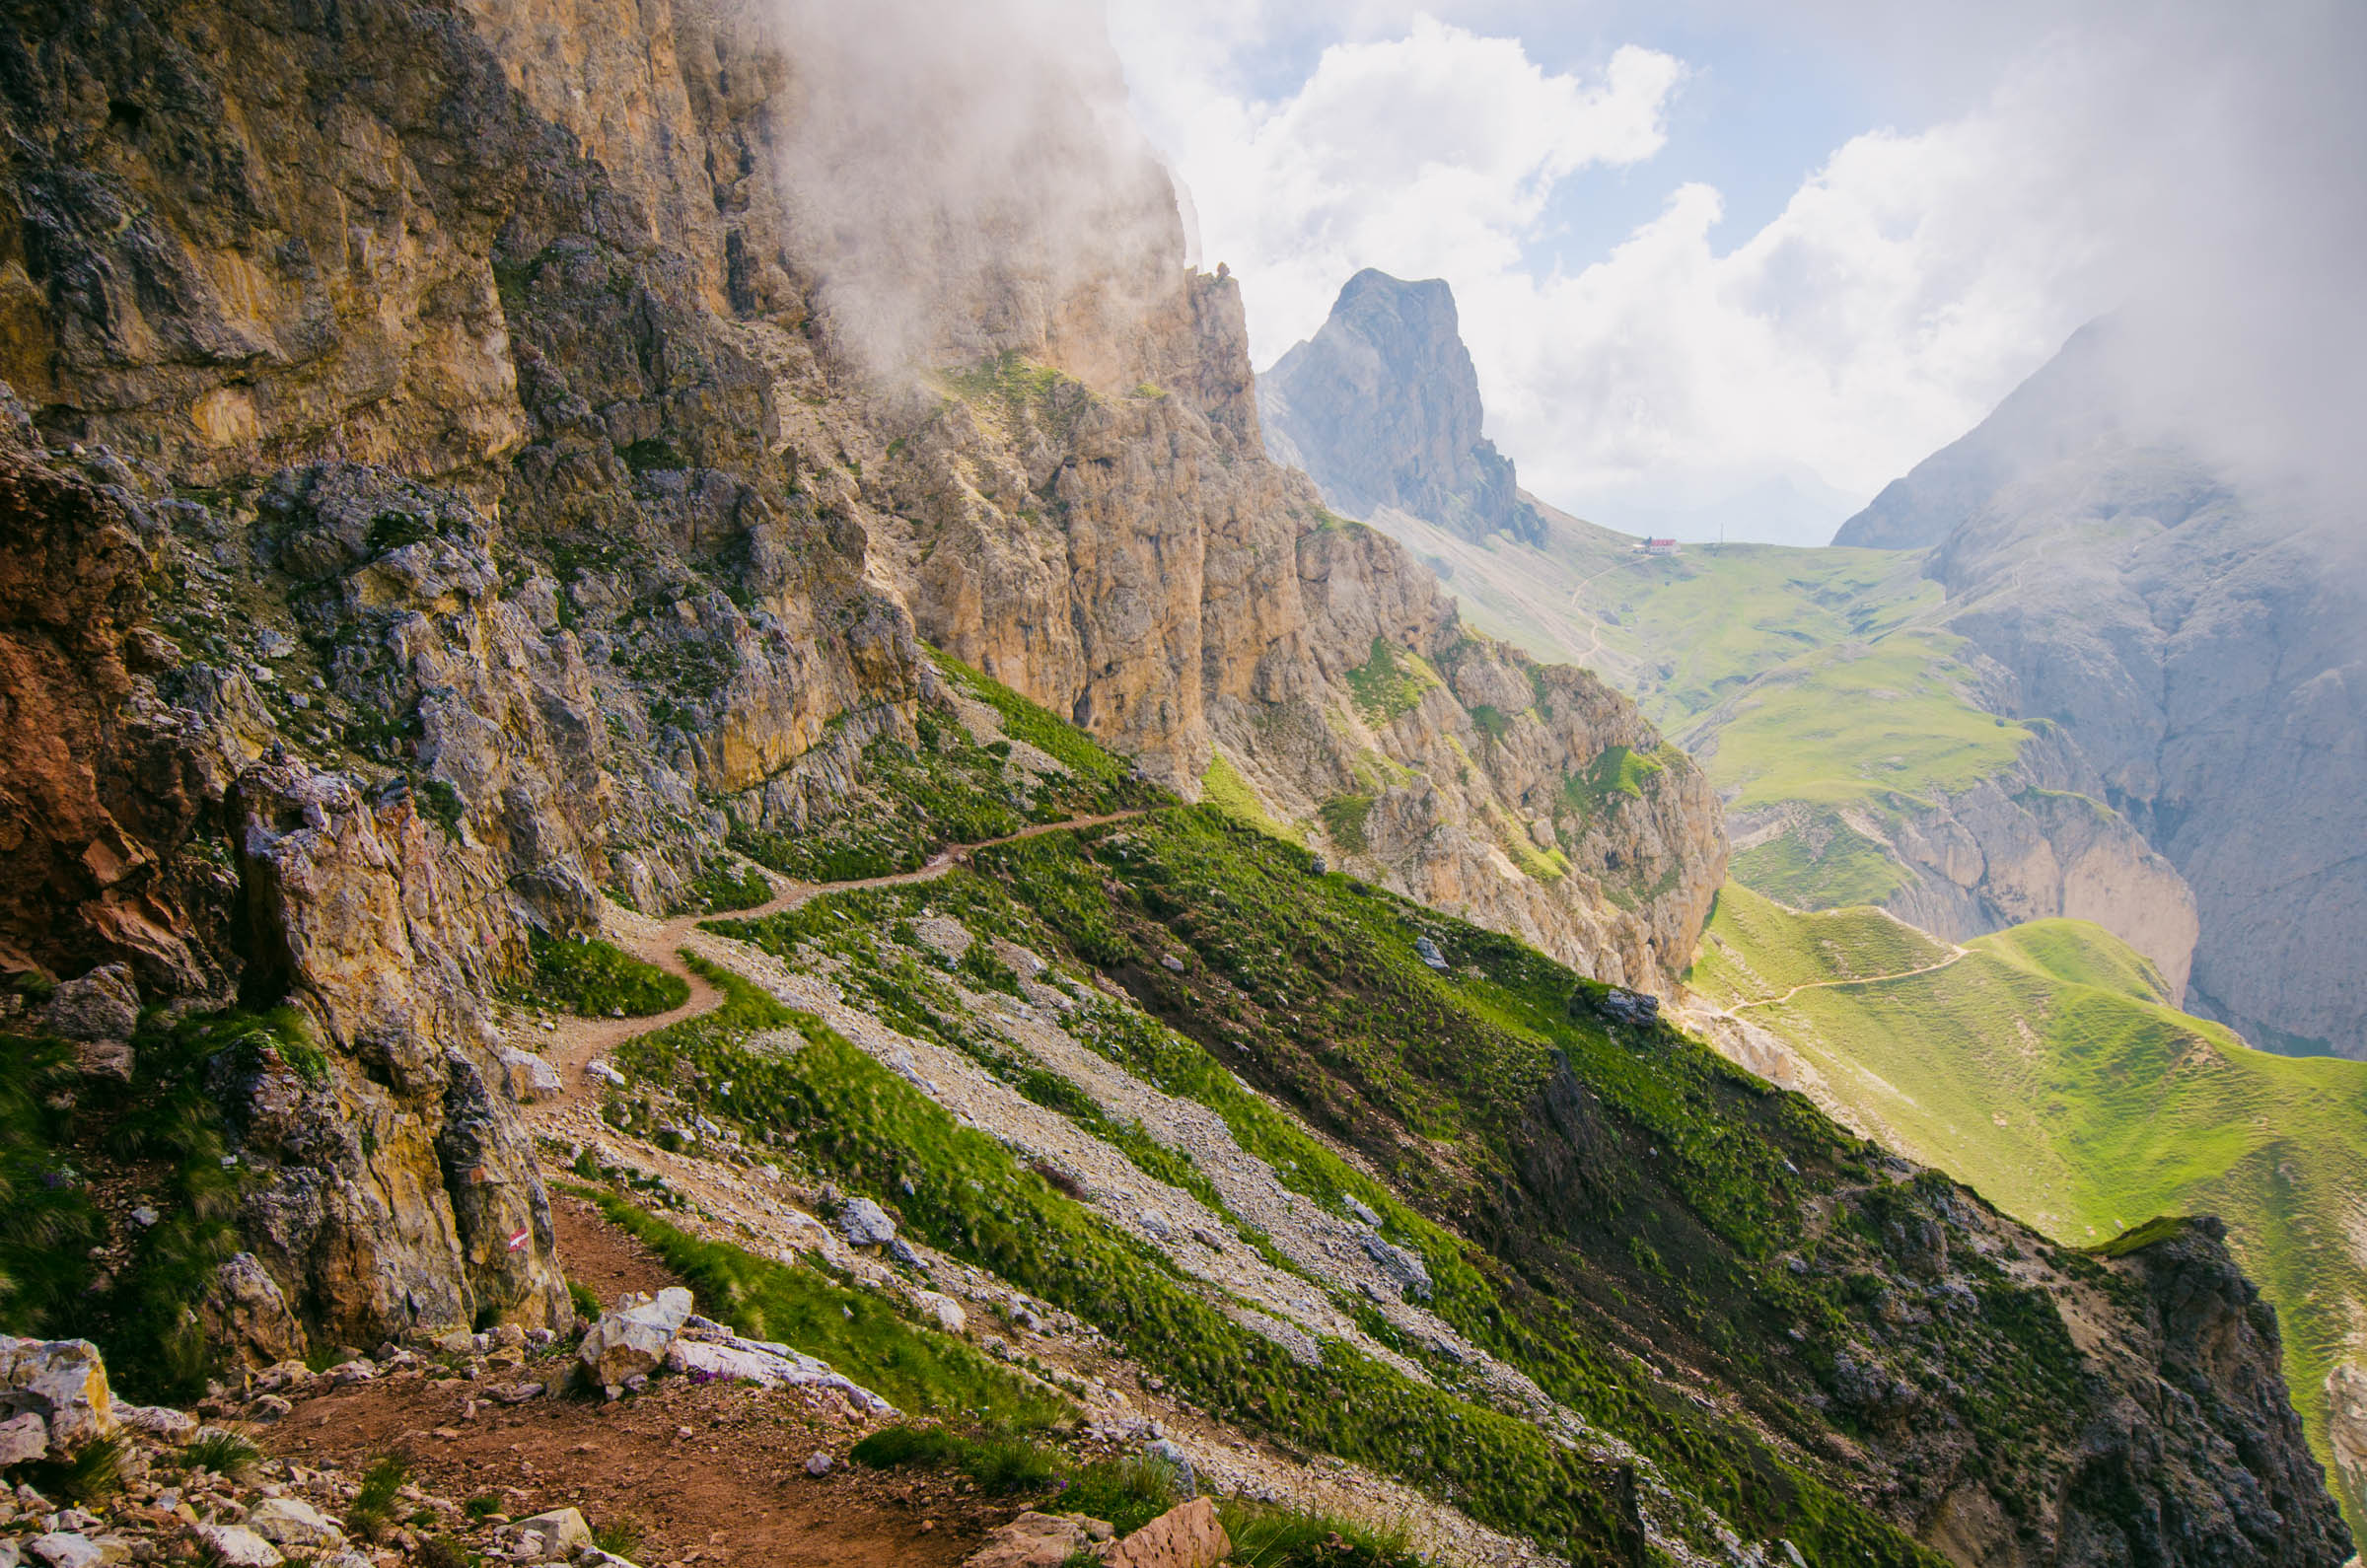
[[[1735,857],[1737,881],[1804,907],[1910,881],[1879,834],[2014,765],[2026,725],[1984,711],[1920,552],[1633,540],[1557,516],[1541,547],[1382,526],[1446,573],[1484,630],[1598,668],[1702,760],[1733,810],[1794,822]]]

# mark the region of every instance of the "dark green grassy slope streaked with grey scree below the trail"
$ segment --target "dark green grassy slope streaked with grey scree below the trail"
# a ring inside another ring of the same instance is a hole
[[[904,789],[944,793],[914,767],[973,777],[963,746],[949,734],[888,758],[864,810],[897,810]],[[1631,765],[1647,760],[1621,758],[1595,784],[1617,789]],[[1034,985],[1058,995],[1023,985],[985,943],[933,964],[911,945],[923,917],[1020,943],[1049,964]],[[2100,1322],[2135,1300],[2133,1279],[2007,1232],[1939,1175],[1898,1180],[1806,1099],[1681,1030],[1614,1023],[1602,985],[1316,874],[1302,846],[1221,805],[1153,803],[980,848],[928,883],[710,928],[828,973],[850,1007],[959,1052],[1221,1213],[1188,1149],[1115,1125],[959,992],[1058,1014],[1075,1045],[1212,1111],[1295,1201],[1370,1215],[1423,1260],[1408,1300],[1617,1445],[1562,1447],[1465,1352],[1361,1296],[1335,1300],[1401,1364],[1335,1338],[1314,1362],[1290,1355],[1120,1217],[819,1018],[793,1018],[802,1042],[786,1052],[760,1045],[753,1014],[623,1047],[632,1094],[613,1097],[613,1125],[644,1120],[644,1085],[679,1101],[677,1120],[736,1123],[805,1180],[866,1191],[916,1239],[1075,1312],[1212,1416],[1375,1464],[1574,1561],[1640,1561],[1631,1485],[1688,1540],[1733,1525],[1818,1563],[1931,1563],[1898,1525],[1934,1530],[1939,1499],[1979,1478],[2007,1530],[2036,1540],[2033,1504],[2069,1485],[2100,1388],[2052,1293]],[[1896,924],[1860,940],[1875,936],[1889,955],[1934,957]],[[1782,973],[1823,973],[1832,957],[1787,962]],[[1927,1225],[1958,1236],[1943,1267],[1955,1300],[1976,1305],[1901,1317],[1889,1307],[1929,1284],[1901,1248]],[[1255,1227],[1240,1239],[1295,1272]],[[1924,1414],[1905,1421],[1889,1388]]]

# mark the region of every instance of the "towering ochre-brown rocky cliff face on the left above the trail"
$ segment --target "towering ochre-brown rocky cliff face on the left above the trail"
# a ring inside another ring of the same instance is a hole
[[[1013,88],[1082,201],[859,213],[824,171],[895,168],[847,144],[854,33],[388,0],[0,43],[0,957],[327,1047],[222,1090],[267,1172],[232,1350],[566,1315],[488,997],[601,891],[675,905],[840,810],[937,694],[921,640],[1186,793],[1226,751],[1316,836],[1354,796],[1368,874],[1593,973],[1690,952],[1700,775],[1557,824],[1657,737],[1264,457],[1238,291],[1179,265],[1115,66]],[[954,76],[916,102],[994,88]]]

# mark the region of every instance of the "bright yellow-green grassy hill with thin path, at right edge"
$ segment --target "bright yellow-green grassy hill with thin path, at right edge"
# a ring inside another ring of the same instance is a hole
[[[1801,914],[1728,886],[1692,985],[1718,1004],[1884,976],[1936,945],[1872,910]],[[1946,957],[1946,952],[1939,952]],[[2324,1381],[2367,1341],[2367,1063],[2256,1052],[2168,1004],[2085,921],[2033,921],[1929,973],[1749,1007],[1889,1142],[2059,1241],[2216,1213],[2277,1305],[2324,1459]],[[2346,1499],[2353,1521],[2360,1499]]]

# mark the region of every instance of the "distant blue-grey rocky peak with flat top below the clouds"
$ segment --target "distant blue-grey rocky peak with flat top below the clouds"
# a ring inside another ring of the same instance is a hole
[[[1352,516],[1394,507],[1470,540],[1546,540],[1513,462],[1479,433],[1479,374],[1444,279],[1373,268],[1347,279],[1314,339],[1259,377],[1257,398],[1276,455]]]

